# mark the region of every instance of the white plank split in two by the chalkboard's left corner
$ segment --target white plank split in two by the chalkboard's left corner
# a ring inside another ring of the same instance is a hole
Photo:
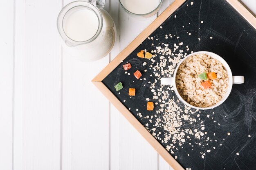
[[[150,18],[135,18],[128,15],[119,5],[118,0],[111,1],[110,15],[118,28],[116,45],[111,52],[114,59],[156,16]],[[136,25],[139,25],[137,27]],[[119,111],[111,105],[110,153],[111,169],[143,169],[157,168],[157,153],[147,144],[145,139],[124,119]]]

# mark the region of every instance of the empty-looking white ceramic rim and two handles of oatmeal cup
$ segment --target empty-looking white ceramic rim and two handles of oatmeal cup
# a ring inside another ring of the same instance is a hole
[[[176,86],[176,74],[177,74],[177,70],[180,67],[181,63],[186,60],[187,58],[195,55],[195,54],[206,54],[208,56],[210,56],[213,59],[216,59],[218,61],[220,61],[220,63],[222,63],[222,65],[224,66],[225,70],[227,71],[227,75],[229,76],[229,86],[227,89],[227,92],[225,94],[225,96],[215,105],[212,105],[210,107],[196,107],[193,106],[191,104],[189,104],[188,102],[186,102],[179,94],[178,90],[177,90],[177,86]],[[217,107],[219,105],[221,105],[229,96],[231,89],[232,89],[232,85],[233,84],[242,84],[244,83],[245,78],[244,76],[233,76],[232,72],[229,68],[229,65],[227,64],[227,62],[222,59],[222,57],[220,57],[219,55],[213,53],[213,52],[208,52],[208,51],[198,51],[198,52],[194,52],[192,54],[189,54],[188,56],[186,56],[184,59],[182,59],[182,61],[177,65],[177,68],[175,69],[175,72],[173,74],[173,77],[167,77],[167,78],[161,78],[161,84],[162,85],[173,85],[174,87],[174,92],[175,94],[178,96],[178,98],[180,99],[180,101],[182,101],[185,105],[194,108],[194,109],[201,109],[201,110],[206,110],[206,109],[213,109],[214,107]]]

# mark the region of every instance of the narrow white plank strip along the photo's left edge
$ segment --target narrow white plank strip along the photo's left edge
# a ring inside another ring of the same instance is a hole
[[[0,169],[12,169],[13,1],[0,1]]]

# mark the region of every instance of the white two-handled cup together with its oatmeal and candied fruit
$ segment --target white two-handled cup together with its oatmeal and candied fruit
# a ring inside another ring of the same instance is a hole
[[[177,65],[173,77],[161,78],[162,85],[173,85],[185,105],[202,110],[221,105],[232,85],[242,83],[244,76],[232,76],[227,62],[207,51],[189,54]]]

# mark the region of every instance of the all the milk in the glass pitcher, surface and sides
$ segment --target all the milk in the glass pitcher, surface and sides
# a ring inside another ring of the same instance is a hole
[[[87,3],[77,1],[79,3]],[[115,43],[115,24],[103,8],[100,9],[102,15],[102,25],[100,25],[97,15],[85,7],[73,8],[73,11],[66,13],[63,23],[65,35],[75,41],[86,41],[94,37],[98,27],[102,27],[97,37],[90,42],[73,44],[68,39],[61,37],[61,43],[65,52],[81,61],[94,61],[106,56]],[[60,19],[60,21],[62,21]],[[64,40],[64,41],[63,41]]]

